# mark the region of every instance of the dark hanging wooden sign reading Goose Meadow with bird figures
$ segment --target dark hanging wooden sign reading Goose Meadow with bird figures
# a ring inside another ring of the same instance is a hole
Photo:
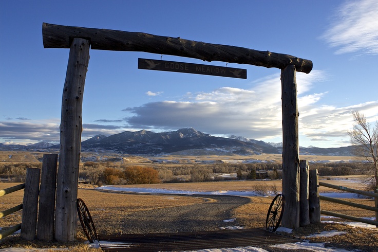
[[[138,59],[138,69],[247,79],[247,69],[166,60]]]

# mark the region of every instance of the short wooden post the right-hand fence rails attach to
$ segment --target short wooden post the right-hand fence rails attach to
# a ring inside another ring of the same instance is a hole
[[[310,223],[320,223],[320,199],[317,169],[309,170],[309,210]]]

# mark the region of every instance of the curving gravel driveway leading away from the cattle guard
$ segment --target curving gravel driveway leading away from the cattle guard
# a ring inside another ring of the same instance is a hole
[[[223,220],[230,220],[234,208],[250,202],[250,199],[240,196],[203,195],[203,198],[203,204],[129,213],[121,225],[127,227],[128,233],[219,230],[220,227],[238,226],[237,220]]]

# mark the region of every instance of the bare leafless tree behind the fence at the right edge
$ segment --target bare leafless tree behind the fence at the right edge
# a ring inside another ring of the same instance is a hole
[[[378,121],[374,127],[366,120],[364,114],[353,111],[353,129],[348,132],[354,145],[355,154],[364,157],[372,166],[372,177],[368,182],[371,187],[378,187]],[[370,189],[372,189],[370,187]]]

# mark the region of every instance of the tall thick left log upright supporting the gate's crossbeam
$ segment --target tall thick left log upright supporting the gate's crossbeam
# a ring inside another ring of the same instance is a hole
[[[56,184],[55,239],[76,239],[79,163],[82,133],[82,107],[90,42],[74,38],[69,51],[63,88],[61,142]]]

